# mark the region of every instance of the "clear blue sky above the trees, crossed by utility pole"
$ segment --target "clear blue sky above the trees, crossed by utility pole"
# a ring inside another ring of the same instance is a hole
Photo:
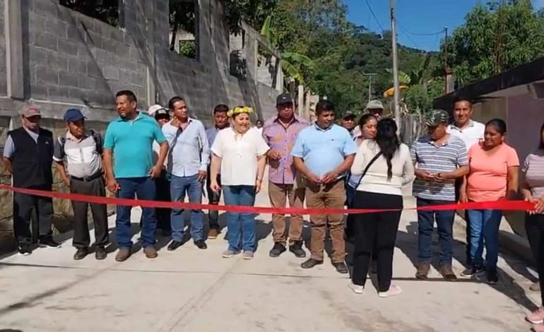
[[[391,30],[389,0],[344,0],[348,19],[356,25],[381,32]],[[449,33],[462,25],[466,14],[476,4],[486,0],[396,0],[397,36],[401,45],[437,51],[444,39],[444,27]],[[369,11],[369,6],[376,18]],[[536,8],[544,7],[544,0],[533,0]],[[381,25],[381,26],[380,26]],[[437,33],[440,32],[440,33]]]

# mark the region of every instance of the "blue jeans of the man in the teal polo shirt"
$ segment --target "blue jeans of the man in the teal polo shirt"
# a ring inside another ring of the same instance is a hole
[[[155,181],[150,177],[131,177],[127,179],[117,179],[121,188],[117,191],[117,197],[152,201],[155,199]],[[115,227],[117,227],[117,245],[119,249],[132,247],[131,235],[131,206],[117,206],[117,217],[115,218]],[[155,228],[157,227],[157,218],[155,218],[154,208],[142,208],[142,226],[141,242],[142,246],[148,247],[155,244]]]

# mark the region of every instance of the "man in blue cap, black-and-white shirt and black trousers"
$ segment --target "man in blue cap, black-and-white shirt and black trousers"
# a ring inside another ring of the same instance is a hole
[[[102,137],[93,130],[85,129],[85,117],[79,109],[68,109],[64,114],[64,121],[68,130],[55,141],[53,155],[61,179],[72,194],[106,196],[102,170]],[[88,206],[95,223],[95,258],[105,259],[105,247],[109,242],[106,204],[72,201],[72,244],[77,249],[73,259],[83,259],[89,253]]]

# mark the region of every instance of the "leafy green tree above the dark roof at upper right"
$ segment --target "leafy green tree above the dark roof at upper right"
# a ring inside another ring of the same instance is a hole
[[[442,43],[444,50],[444,43]],[[510,0],[477,5],[448,43],[448,62],[457,87],[544,55],[544,11],[531,1]]]

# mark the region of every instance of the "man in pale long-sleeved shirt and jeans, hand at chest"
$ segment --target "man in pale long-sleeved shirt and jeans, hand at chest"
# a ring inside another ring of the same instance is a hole
[[[202,202],[203,181],[210,163],[210,146],[206,129],[201,121],[189,117],[187,103],[182,97],[172,97],[168,108],[174,119],[162,126],[170,153],[168,154],[167,172],[172,174],[170,196],[172,201],[184,201],[189,196],[189,203]],[[182,208],[172,208],[172,242],[168,250],[172,251],[183,244],[184,219]],[[191,237],[199,249],[206,249],[203,239],[203,215],[201,210],[191,211]]]

